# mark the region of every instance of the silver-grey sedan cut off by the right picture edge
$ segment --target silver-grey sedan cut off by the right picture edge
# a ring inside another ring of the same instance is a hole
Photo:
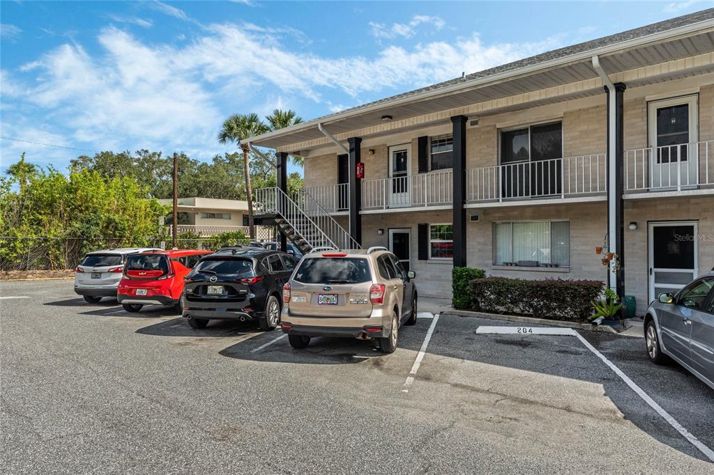
[[[714,389],[714,272],[677,293],[660,294],[644,328],[652,362],[674,359]]]

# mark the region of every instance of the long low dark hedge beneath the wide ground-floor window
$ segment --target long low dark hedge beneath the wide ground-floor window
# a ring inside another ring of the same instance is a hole
[[[470,306],[490,313],[550,320],[585,320],[603,290],[600,280],[525,280],[485,277],[469,283]]]

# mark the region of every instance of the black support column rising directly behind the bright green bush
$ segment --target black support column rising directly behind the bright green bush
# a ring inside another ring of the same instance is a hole
[[[466,116],[453,116],[453,267],[466,267]]]

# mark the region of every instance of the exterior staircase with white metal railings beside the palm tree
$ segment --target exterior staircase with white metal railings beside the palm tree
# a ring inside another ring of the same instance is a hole
[[[359,249],[361,246],[305,190],[288,196],[277,187],[255,190],[256,215],[272,217],[281,232],[302,252],[315,247]]]

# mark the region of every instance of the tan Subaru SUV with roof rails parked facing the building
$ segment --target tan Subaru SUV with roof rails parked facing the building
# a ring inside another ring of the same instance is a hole
[[[391,353],[399,327],[416,323],[414,277],[386,247],[311,252],[283,287],[281,327],[294,348],[311,337],[355,337]]]

